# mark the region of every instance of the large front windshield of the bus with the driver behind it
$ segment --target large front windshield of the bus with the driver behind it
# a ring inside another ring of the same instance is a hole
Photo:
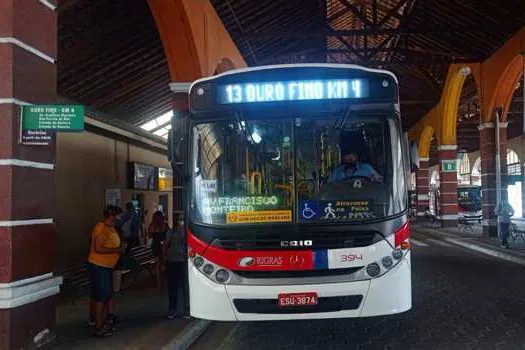
[[[191,136],[194,222],[362,223],[405,210],[395,117],[236,115]]]

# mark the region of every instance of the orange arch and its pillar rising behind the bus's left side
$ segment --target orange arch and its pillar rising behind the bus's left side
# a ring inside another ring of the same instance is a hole
[[[209,1],[148,0],[148,4],[159,30],[172,81],[169,86],[173,93],[170,139],[180,139],[184,137],[180,132],[186,129],[184,117],[189,113],[191,83],[199,78],[246,67],[246,63]],[[184,154],[184,150],[180,154]],[[175,165],[174,218],[184,215],[187,191],[183,186],[183,174],[177,171],[183,166],[180,161],[172,159]],[[187,284],[184,287],[185,307],[189,308]]]

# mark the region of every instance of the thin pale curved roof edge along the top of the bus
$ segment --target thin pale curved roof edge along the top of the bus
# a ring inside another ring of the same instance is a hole
[[[233,75],[233,74],[238,74],[238,73],[247,73],[247,72],[259,71],[259,70],[269,70],[269,69],[308,68],[308,67],[313,67],[313,68],[317,67],[317,68],[358,69],[358,70],[362,70],[362,71],[366,71],[366,72],[370,72],[370,73],[382,73],[382,74],[390,75],[394,79],[396,84],[399,84],[399,81],[397,80],[396,75],[394,73],[390,72],[390,71],[387,71],[387,70],[368,68],[368,67],[358,66],[356,64],[294,63],[294,64],[275,64],[275,65],[267,65],[267,66],[257,66],[257,67],[247,67],[247,68],[232,69],[232,70],[229,70],[229,71],[217,74],[217,75],[212,75],[212,76],[209,76],[209,77],[205,77],[205,78],[201,78],[201,79],[195,80],[191,84],[189,92],[191,93],[191,90],[193,89],[193,86],[195,84],[198,84],[198,83],[201,83],[201,82],[204,82],[204,81],[207,81],[207,80],[214,80],[214,79],[217,79],[217,78],[220,78],[220,77],[223,77],[223,76],[227,76],[227,75]]]

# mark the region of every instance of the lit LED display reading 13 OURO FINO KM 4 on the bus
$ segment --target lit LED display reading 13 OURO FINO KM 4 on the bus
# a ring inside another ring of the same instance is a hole
[[[219,104],[369,97],[368,82],[362,79],[242,83],[220,85],[218,89]]]

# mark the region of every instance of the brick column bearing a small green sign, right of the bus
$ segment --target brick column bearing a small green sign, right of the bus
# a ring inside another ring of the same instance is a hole
[[[439,216],[443,226],[457,225],[458,218],[458,175],[456,145],[438,147],[439,163]],[[456,166],[446,168],[446,164],[454,162]]]

